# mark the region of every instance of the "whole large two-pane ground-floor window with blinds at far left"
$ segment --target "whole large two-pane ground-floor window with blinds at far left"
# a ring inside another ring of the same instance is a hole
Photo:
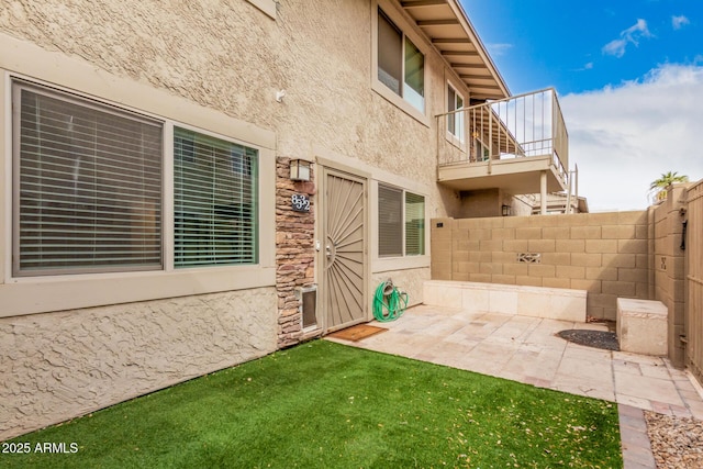
[[[21,80],[12,100],[14,276],[258,264],[258,149]]]

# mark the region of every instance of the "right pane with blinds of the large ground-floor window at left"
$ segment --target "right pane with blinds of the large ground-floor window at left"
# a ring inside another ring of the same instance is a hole
[[[174,129],[175,267],[258,263],[258,152]]]

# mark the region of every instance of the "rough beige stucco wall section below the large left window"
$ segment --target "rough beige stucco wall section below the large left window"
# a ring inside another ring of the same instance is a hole
[[[267,355],[272,288],[0,319],[0,439]]]

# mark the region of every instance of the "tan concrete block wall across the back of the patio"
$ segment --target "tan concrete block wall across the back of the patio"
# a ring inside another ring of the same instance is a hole
[[[618,297],[650,298],[648,220],[646,211],[434,219],[432,278],[587,290],[588,315],[615,320]]]

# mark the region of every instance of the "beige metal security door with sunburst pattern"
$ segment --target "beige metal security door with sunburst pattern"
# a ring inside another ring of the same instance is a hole
[[[367,320],[366,182],[325,169],[323,305],[327,332]]]

